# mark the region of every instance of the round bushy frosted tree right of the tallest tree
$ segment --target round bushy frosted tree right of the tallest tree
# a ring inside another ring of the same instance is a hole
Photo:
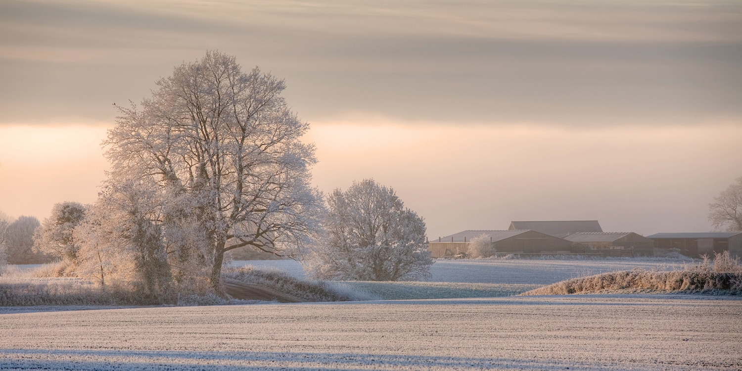
[[[429,275],[425,223],[374,180],[329,195],[326,233],[306,265],[315,278],[406,280]]]

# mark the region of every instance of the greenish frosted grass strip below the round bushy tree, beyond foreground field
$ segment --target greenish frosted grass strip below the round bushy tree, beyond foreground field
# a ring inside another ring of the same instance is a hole
[[[347,288],[355,292],[354,298],[365,300],[412,300],[450,298],[496,298],[518,295],[540,285],[502,283],[450,283],[450,282],[329,282],[331,287]]]

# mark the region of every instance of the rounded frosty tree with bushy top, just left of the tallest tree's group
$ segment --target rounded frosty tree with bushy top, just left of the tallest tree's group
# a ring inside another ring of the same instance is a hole
[[[50,216],[36,229],[33,236],[34,251],[59,257],[70,269],[74,269],[78,263],[79,244],[75,242],[72,232],[85,220],[86,211],[88,206],[82,203],[66,201],[54,205]]]

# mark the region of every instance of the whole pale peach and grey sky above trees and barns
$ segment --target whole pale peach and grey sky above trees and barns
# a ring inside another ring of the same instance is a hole
[[[0,1],[0,210],[91,203],[113,103],[217,49],[286,80],[313,183],[428,236],[706,232],[742,176],[740,1]]]

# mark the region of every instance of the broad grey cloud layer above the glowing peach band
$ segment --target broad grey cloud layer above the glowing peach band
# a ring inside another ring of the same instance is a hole
[[[220,49],[301,116],[700,125],[742,117],[738,1],[3,1],[0,124],[111,122]]]

